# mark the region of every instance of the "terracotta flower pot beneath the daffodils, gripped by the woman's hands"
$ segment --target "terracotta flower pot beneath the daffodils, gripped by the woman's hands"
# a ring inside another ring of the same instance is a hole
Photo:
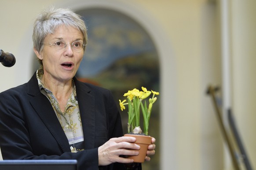
[[[125,134],[124,136],[132,136],[136,138],[136,144],[140,146],[139,155],[136,156],[128,156],[134,160],[135,163],[143,163],[146,157],[146,151],[148,145],[151,144],[152,137],[146,135],[133,135],[133,134]]]

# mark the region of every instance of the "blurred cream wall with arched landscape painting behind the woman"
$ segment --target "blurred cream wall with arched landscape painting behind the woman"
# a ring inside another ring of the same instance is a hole
[[[33,21],[52,5],[73,9],[88,26],[81,81],[110,89],[117,102],[128,89],[160,92],[149,132],[156,154],[143,170],[234,169],[208,85],[220,87],[224,123],[231,108],[256,168],[255,0],[1,0],[0,49],[16,64],[0,64],[0,92],[37,69]]]

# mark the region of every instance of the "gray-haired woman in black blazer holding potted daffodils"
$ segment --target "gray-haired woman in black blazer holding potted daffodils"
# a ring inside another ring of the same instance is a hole
[[[0,93],[3,158],[77,159],[80,170],[141,169],[125,158],[137,155],[139,145],[123,136],[110,91],[74,77],[87,45],[80,16],[44,11],[34,23],[33,43],[40,69],[27,83]]]

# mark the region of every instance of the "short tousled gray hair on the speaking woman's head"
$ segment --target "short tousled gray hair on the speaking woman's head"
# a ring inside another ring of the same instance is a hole
[[[41,43],[43,43],[44,38],[48,34],[54,33],[56,28],[61,25],[72,26],[80,30],[84,36],[84,44],[87,44],[87,29],[81,16],[68,8],[55,9],[54,7],[50,7],[39,14],[34,22],[33,45],[35,50],[40,53],[43,48]]]

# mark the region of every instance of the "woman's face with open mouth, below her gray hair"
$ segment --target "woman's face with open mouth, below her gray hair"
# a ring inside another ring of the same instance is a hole
[[[78,29],[65,25],[45,37],[44,43],[46,44],[42,52],[35,51],[37,57],[43,62],[45,79],[52,82],[66,82],[75,76],[83,59],[84,50],[76,52],[71,48],[71,44],[75,41],[83,42],[83,39],[83,34]],[[56,41],[65,42],[66,48],[57,51],[55,46],[47,45],[54,44]]]

